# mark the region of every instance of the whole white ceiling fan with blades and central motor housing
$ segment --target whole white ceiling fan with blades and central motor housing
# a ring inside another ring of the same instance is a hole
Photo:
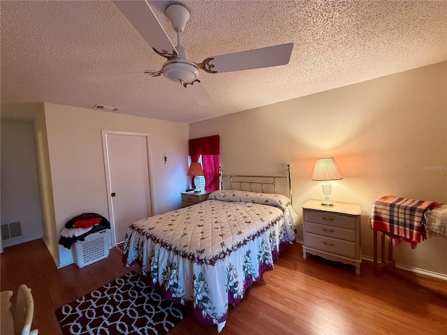
[[[186,49],[182,46],[181,34],[189,20],[189,11],[179,3],[170,4],[165,15],[177,32],[177,46],[174,47],[170,38],[156,18],[148,0],[144,1],[113,1],[127,20],[145,39],[152,50],[165,57],[161,70],[145,70],[152,77],[163,75],[168,80],[179,82],[193,95],[200,105],[212,101],[210,93],[198,79],[199,70],[207,73],[223,73],[254,68],[266,68],[288,64],[293,43],[262,47],[260,49],[221,54],[207,57],[201,63],[188,59]]]

